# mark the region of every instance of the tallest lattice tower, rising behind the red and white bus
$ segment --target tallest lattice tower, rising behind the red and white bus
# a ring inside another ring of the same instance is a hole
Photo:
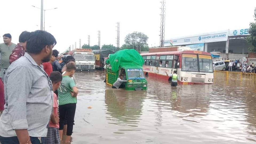
[[[165,1],[161,1],[161,25],[160,25],[160,47],[164,46],[165,40]]]

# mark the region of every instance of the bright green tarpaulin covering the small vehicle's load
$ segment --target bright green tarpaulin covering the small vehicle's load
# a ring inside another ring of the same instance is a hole
[[[142,67],[144,60],[142,56],[134,49],[119,50],[109,55],[106,63],[110,63],[111,70],[117,72],[121,67]]]

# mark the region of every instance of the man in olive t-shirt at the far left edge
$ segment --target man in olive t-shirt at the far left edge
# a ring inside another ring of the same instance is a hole
[[[0,44],[0,53],[1,53],[1,61],[0,61],[0,78],[4,81],[4,76],[7,68],[9,67],[9,57],[11,52],[13,51],[16,44],[11,42],[11,34],[3,35],[3,42]]]

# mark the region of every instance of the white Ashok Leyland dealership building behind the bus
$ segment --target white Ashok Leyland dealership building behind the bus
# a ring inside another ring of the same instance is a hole
[[[244,57],[248,54],[248,28],[165,39],[164,46],[189,46],[193,50],[221,53],[221,57]],[[233,56],[232,56],[233,55]]]

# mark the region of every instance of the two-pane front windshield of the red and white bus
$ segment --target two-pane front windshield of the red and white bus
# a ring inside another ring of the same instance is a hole
[[[199,58],[199,59],[198,59]],[[213,72],[213,62],[209,55],[182,54],[182,71]]]

